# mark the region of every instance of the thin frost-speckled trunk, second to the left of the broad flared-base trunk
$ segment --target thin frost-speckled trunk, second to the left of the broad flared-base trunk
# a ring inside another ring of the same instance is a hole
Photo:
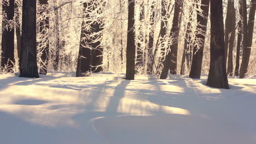
[[[189,65],[192,59],[191,55],[191,21],[192,21],[192,15],[193,15],[193,8],[190,8],[189,10],[189,22],[187,23],[187,32],[185,34],[185,40],[184,40],[184,50],[183,50],[183,55],[182,55],[182,63],[181,63],[181,75],[184,75],[185,73],[185,59],[187,59],[187,67],[189,69]]]

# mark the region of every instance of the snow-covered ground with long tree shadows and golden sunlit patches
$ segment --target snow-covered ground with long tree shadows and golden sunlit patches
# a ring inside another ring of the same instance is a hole
[[[1,144],[255,144],[256,79],[0,75]]]

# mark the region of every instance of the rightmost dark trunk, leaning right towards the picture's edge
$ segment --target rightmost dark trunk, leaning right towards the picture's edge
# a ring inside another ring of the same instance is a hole
[[[243,25],[246,25],[247,21],[247,11],[246,11],[246,0],[243,1]],[[251,1],[251,8],[249,11],[249,19],[248,19],[248,26],[245,28],[243,27],[244,34],[246,34],[246,38],[243,37],[243,40],[245,41],[243,44],[243,57],[242,57],[242,63],[240,68],[240,79],[245,78],[245,74],[248,71],[248,65],[249,60],[251,56],[251,49],[252,49],[252,39],[253,39],[253,28],[254,28],[254,18],[255,18],[255,7],[256,7],[256,1]],[[246,43],[246,44],[245,44]]]

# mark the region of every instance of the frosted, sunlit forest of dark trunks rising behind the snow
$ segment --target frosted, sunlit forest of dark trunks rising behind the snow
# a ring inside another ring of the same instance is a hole
[[[126,70],[127,80],[135,74],[208,74],[207,85],[228,88],[228,75],[255,74],[255,4],[3,0],[1,73],[39,77],[53,69],[90,76]]]

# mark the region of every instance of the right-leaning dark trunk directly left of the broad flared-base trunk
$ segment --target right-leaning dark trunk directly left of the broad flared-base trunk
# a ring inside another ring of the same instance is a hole
[[[203,58],[203,48],[205,45],[205,35],[207,30],[207,21],[209,13],[210,0],[201,1],[201,9],[203,11],[203,16],[197,11],[197,23],[199,23],[196,28],[200,29],[201,33],[196,34],[196,40],[200,40],[200,45],[195,45],[193,48],[193,58],[190,68],[189,77],[192,79],[200,79],[201,69],[202,69],[202,58]]]

